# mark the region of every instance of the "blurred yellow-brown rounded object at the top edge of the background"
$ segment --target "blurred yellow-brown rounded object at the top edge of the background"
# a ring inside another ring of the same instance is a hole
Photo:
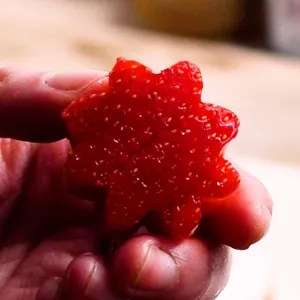
[[[226,37],[243,16],[243,0],[134,0],[152,28],[200,37]]]

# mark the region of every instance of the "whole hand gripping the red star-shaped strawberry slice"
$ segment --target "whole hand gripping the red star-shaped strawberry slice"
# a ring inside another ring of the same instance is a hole
[[[266,233],[269,195],[240,169],[240,187],[203,220],[202,237],[175,244],[135,236],[105,264],[95,204],[64,186],[69,146],[60,119],[103,76],[0,69],[0,299],[215,299],[230,271],[228,246],[246,249]],[[208,231],[213,242],[203,238]]]

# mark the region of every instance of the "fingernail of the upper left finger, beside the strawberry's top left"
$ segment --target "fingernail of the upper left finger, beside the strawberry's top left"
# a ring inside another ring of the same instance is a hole
[[[103,71],[48,74],[45,78],[45,84],[55,90],[79,91],[106,75],[107,73]]]

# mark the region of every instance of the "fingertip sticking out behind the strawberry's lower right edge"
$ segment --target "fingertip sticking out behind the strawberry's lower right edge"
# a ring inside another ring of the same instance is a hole
[[[217,240],[236,249],[247,249],[268,231],[272,215],[272,200],[263,184],[239,168],[241,183],[227,199],[208,200],[208,213],[200,231],[208,239]]]

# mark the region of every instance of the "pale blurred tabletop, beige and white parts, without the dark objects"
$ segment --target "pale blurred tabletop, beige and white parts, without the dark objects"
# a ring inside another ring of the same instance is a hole
[[[0,61],[52,70],[108,70],[118,56],[157,71],[181,59],[199,64],[205,99],[241,118],[231,153],[275,199],[270,234],[247,253],[234,253],[220,299],[300,299],[300,249],[293,240],[300,228],[300,169],[279,165],[300,163],[300,61],[134,30],[116,20],[112,6],[104,0],[0,0]]]

